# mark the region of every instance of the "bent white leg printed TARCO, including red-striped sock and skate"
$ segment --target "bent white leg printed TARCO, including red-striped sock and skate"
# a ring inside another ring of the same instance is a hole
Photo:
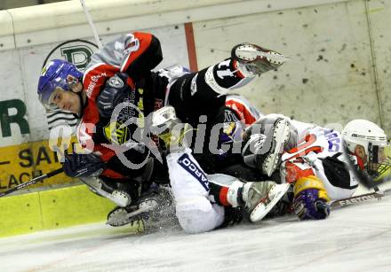
[[[188,147],[188,124],[172,106],[153,113],[152,132],[164,140],[167,166],[180,226],[188,233],[217,229],[233,220],[232,208],[243,207],[250,221],[261,220],[283,197],[289,184],[243,183],[230,175],[206,175]],[[288,185],[288,186],[287,186]],[[234,219],[235,220],[235,219]]]

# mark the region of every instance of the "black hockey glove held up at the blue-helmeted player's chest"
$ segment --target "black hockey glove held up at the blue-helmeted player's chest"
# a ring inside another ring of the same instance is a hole
[[[110,118],[116,105],[124,102],[129,96],[132,87],[127,82],[128,78],[127,74],[118,73],[108,79],[105,89],[100,91],[96,99],[100,116]]]

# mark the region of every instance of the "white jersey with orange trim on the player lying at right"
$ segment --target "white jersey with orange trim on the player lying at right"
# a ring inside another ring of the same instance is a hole
[[[356,161],[356,157],[344,152],[339,131],[295,120],[291,120],[291,125],[299,142],[283,152],[283,181],[292,183],[301,176],[315,175],[323,181],[332,200],[351,197],[358,183],[347,159]]]

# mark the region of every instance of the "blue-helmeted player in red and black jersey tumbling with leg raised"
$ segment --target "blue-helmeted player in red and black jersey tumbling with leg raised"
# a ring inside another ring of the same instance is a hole
[[[148,187],[156,172],[162,172],[156,171],[162,167],[157,167],[159,154],[150,143],[155,139],[148,134],[149,113],[172,105],[183,122],[196,128],[199,117],[205,115],[209,125],[226,105],[231,89],[276,69],[286,60],[275,51],[240,43],[232,50],[231,58],[196,73],[181,66],[151,72],[162,58],[156,36],[134,32],[106,43],[92,56],[84,74],[56,59],[44,67],[38,82],[38,96],[46,107],[59,107],[81,118],[76,136],[87,153],[68,154],[65,173],[84,179],[119,206],[133,203],[140,196],[142,184]],[[129,106],[116,113],[123,102]],[[131,137],[140,141],[127,144]],[[150,156],[151,152],[155,157]],[[121,186],[134,181],[135,187],[141,186],[121,190]]]

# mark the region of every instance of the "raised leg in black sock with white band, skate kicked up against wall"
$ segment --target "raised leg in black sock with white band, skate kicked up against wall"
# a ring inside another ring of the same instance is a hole
[[[200,115],[214,116],[229,91],[281,66],[283,61],[275,56],[282,55],[249,43],[238,44],[231,58],[178,78],[170,87],[168,103],[175,107],[180,120],[190,123],[198,122]]]

